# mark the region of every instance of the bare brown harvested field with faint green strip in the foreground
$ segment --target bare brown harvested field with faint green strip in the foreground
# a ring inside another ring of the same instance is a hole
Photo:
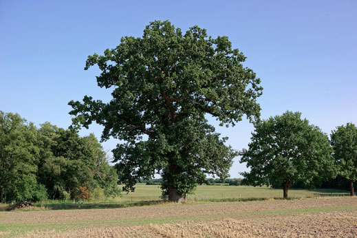
[[[0,237],[356,237],[357,197],[0,213]]]

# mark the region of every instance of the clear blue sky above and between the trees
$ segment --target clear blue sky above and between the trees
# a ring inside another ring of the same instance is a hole
[[[357,123],[357,1],[17,1],[0,0],[0,110],[39,125],[68,127],[69,100],[109,100],[96,85],[88,55],[116,47],[122,36],[142,36],[154,20],[183,31],[193,25],[228,36],[248,57],[264,87],[262,118],[286,110],[330,133]],[[235,149],[247,147],[247,121],[217,131]],[[82,135],[99,126],[82,130]],[[104,142],[111,150],[115,140]],[[231,177],[246,171],[239,158]]]

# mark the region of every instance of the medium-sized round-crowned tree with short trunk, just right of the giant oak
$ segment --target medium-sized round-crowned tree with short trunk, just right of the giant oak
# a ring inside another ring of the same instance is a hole
[[[332,147],[325,133],[301,113],[286,111],[255,125],[249,149],[240,152],[250,172],[244,182],[253,186],[274,184],[283,188],[283,197],[297,180],[305,184],[337,174]]]

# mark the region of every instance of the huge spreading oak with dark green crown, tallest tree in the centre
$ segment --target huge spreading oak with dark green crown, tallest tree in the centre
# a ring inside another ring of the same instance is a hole
[[[142,38],[94,54],[85,69],[98,65],[98,86],[112,89],[109,103],[85,96],[69,102],[74,125],[103,125],[102,140],[125,141],[113,150],[125,191],[136,181],[162,176],[163,197],[181,201],[205,174],[226,177],[236,152],[208,124],[235,125],[246,114],[260,115],[260,79],[243,67],[245,56],[226,36],[208,37],[197,26],[182,34],[169,21],[154,21]]]

